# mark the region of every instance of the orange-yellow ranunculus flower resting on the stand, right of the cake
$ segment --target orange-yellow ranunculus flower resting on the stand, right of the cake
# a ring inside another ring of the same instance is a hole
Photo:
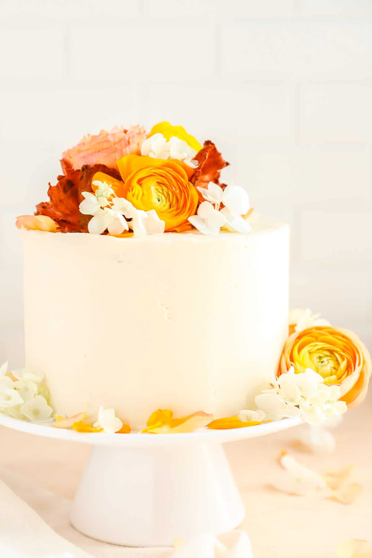
[[[294,366],[296,373],[311,368],[327,386],[340,386],[341,401],[361,403],[372,372],[371,357],[359,337],[347,329],[315,326],[293,333],[284,345],[279,373]]]

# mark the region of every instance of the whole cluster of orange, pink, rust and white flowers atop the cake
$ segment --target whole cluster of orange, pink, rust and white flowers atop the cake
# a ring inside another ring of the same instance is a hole
[[[62,153],[63,175],[49,185],[49,201],[17,227],[115,237],[195,228],[248,233],[247,192],[220,184],[225,162],[214,143],[200,143],[182,126],[113,128],[84,136]]]

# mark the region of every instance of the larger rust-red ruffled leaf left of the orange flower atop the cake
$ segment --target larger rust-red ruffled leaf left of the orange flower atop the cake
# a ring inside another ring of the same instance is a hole
[[[65,175],[57,176],[57,184],[49,184],[48,196],[36,206],[35,215],[47,215],[57,223],[60,232],[88,232],[90,215],[82,215],[79,204],[83,201],[81,192],[91,192],[91,179],[95,172],[105,172],[115,179],[120,179],[119,172],[108,169],[105,165],[84,165],[81,170],[67,169]]]

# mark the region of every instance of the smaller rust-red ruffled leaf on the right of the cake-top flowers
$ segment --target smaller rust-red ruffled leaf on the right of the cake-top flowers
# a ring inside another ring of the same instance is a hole
[[[210,140],[204,142],[204,146],[196,154],[195,158],[199,164],[191,176],[190,182],[194,186],[202,188],[207,188],[208,182],[219,184],[220,171],[230,164],[224,161],[223,156]]]

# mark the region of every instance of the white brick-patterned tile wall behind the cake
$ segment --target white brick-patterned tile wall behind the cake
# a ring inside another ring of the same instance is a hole
[[[370,0],[2,0],[0,59],[0,361],[23,360],[16,215],[84,133],[162,119],[291,224],[291,304],[372,348]]]

